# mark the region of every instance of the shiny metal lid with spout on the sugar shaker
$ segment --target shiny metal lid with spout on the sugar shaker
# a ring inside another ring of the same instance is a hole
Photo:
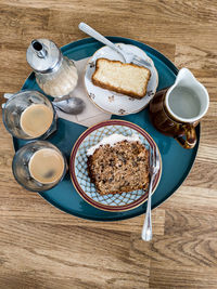
[[[26,60],[36,73],[47,74],[55,70],[62,61],[56,44],[48,39],[35,39],[26,52]]]

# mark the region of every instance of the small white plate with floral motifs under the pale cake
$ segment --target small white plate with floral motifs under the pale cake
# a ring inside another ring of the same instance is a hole
[[[116,51],[112,50],[108,47],[99,49],[89,60],[85,74],[85,86],[88,92],[88,96],[100,109],[108,114],[124,116],[138,113],[149,104],[149,102],[154,96],[156,88],[158,86],[158,74],[153,61],[146,55],[144,51],[130,44],[118,43],[117,45],[119,45],[127,52],[135,53],[136,55],[140,56],[151,64],[151,67],[148,67],[151,71],[151,78],[148,83],[146,95],[141,100],[136,100],[120,93],[101,89],[92,83],[91,77],[95,70],[94,65],[98,58],[105,57],[108,60],[123,62],[122,55],[119,55]]]

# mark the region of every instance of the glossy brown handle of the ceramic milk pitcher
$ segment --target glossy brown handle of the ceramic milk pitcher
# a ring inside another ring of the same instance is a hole
[[[184,135],[174,136],[174,139],[183,147],[183,148],[193,148],[196,144],[196,131],[193,126],[184,126]]]

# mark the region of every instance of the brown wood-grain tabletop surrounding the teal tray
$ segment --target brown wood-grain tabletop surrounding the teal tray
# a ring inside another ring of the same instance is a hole
[[[140,238],[144,215],[115,223],[59,211],[13,179],[12,140],[0,135],[0,289],[217,288],[216,1],[0,1],[0,93],[30,73],[34,38],[60,47],[103,35],[145,42],[190,68],[210,96],[195,165],[182,186],[153,211],[154,238]]]

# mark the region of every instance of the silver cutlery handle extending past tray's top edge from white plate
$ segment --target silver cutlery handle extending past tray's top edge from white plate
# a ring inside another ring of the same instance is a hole
[[[114,49],[115,51],[117,51],[118,53],[122,53],[119,51],[119,49],[113,43],[111,42],[108,39],[106,39],[104,36],[102,36],[101,34],[99,34],[98,31],[95,31],[93,28],[91,28],[89,25],[87,25],[86,23],[81,22],[78,25],[78,28],[84,31],[85,34],[91,36],[92,38],[97,39],[98,41],[102,42],[103,44],[110,47],[111,49]]]

